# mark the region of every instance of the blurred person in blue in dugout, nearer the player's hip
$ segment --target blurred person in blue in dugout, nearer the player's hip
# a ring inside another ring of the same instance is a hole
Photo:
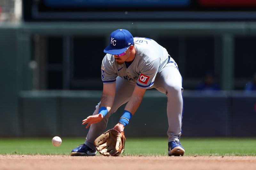
[[[196,87],[196,90],[200,90],[200,91],[220,90],[220,86],[217,83],[215,83],[212,70],[206,71],[204,81]]]

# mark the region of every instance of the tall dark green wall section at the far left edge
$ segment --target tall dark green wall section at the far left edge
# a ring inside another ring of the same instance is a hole
[[[0,31],[0,136],[17,136],[19,130],[17,29]],[[8,48],[7,48],[8,47]]]

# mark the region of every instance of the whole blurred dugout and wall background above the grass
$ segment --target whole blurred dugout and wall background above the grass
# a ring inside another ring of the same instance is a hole
[[[123,28],[178,63],[183,136],[255,137],[255,8],[254,0],[0,0],[0,136],[85,136],[103,49]],[[147,90],[126,134],[166,136],[166,102]]]

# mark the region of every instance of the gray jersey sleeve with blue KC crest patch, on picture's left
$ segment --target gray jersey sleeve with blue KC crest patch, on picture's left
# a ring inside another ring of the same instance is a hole
[[[112,63],[113,64],[113,63]],[[108,61],[107,55],[102,60],[101,64],[101,80],[103,84],[111,84],[116,81],[117,72],[111,62]]]

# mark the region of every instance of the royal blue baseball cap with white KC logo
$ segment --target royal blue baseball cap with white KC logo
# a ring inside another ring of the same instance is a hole
[[[118,55],[123,53],[133,44],[132,34],[125,29],[113,31],[109,37],[109,46],[104,49],[104,53]]]

